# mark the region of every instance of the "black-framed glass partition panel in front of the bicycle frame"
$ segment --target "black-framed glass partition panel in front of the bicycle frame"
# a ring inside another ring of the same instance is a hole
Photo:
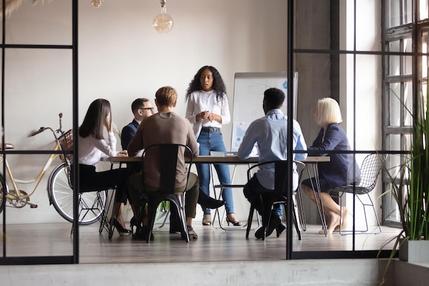
[[[46,7],[64,15],[63,25],[37,21],[42,15],[37,9],[31,21],[10,16],[9,4],[8,16],[3,10],[0,17],[0,264],[78,262],[76,222],[74,235],[72,224],[44,222],[58,216],[49,178],[64,152],[55,136],[77,126],[77,2]],[[25,123],[16,128],[21,120]],[[69,204],[73,209],[73,198]]]

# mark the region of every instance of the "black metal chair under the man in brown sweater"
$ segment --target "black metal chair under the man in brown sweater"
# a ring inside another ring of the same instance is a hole
[[[158,170],[160,172],[160,191],[146,192],[145,191],[145,176],[143,176],[143,198],[140,203],[139,216],[143,215],[144,205],[147,202],[147,224],[149,234],[147,235],[146,242],[149,243],[154,228],[156,210],[160,202],[169,200],[175,205],[175,208],[170,208],[171,211],[177,211],[182,222],[182,239],[189,242],[188,228],[186,227],[186,214],[184,211],[184,192],[174,193],[175,177],[177,172],[177,154],[184,152],[189,156],[189,166],[192,165],[192,152],[191,149],[182,144],[155,144],[150,145],[145,149],[142,156],[142,170],[145,171],[144,158],[149,152],[157,152],[158,156]],[[191,167],[188,167],[188,174],[186,177],[186,186],[188,184],[189,174]],[[141,221],[141,219],[139,220]]]

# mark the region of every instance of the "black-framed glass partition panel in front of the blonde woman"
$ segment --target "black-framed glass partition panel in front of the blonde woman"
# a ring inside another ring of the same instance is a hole
[[[340,104],[341,126],[358,165],[369,153],[388,154],[385,167],[391,174],[399,174],[394,170],[406,160],[413,114],[421,108],[417,106],[419,97],[426,102],[428,1],[295,1],[295,11],[298,121],[303,122],[308,145],[319,128],[306,120],[312,114],[308,106],[315,106],[317,99],[332,97]],[[371,198],[383,225],[382,233],[395,235],[400,232],[400,217],[389,193],[392,183],[397,184],[383,173]],[[352,228],[357,230],[365,217],[360,202],[349,194],[343,204],[352,210]],[[366,215],[370,224],[376,225],[371,211]],[[374,239],[356,232],[343,241],[348,245],[345,249],[294,249],[293,257],[376,257],[382,243],[366,240],[364,246],[359,242],[363,237]],[[384,254],[391,248],[384,248]]]

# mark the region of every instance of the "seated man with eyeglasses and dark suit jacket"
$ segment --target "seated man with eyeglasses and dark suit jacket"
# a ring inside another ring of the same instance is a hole
[[[154,114],[154,108],[152,107],[149,99],[147,98],[138,98],[134,100],[131,104],[131,110],[134,115],[134,119],[127,126],[122,128],[121,133],[121,145],[122,150],[128,150],[128,144],[130,144],[132,136],[137,131],[140,123]],[[137,168],[137,169],[136,169]],[[140,164],[137,163],[135,166],[133,165],[134,171],[140,171]]]

